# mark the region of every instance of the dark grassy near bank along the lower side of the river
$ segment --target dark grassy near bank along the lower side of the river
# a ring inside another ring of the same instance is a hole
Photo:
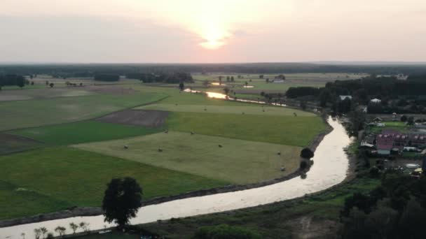
[[[348,177],[340,184],[287,201],[211,215],[170,219],[139,227],[166,238],[191,238],[202,226],[228,224],[256,231],[262,238],[338,238],[339,214],[346,197],[380,184],[367,171],[356,171],[355,152],[347,150]],[[278,236],[277,236],[278,235]]]

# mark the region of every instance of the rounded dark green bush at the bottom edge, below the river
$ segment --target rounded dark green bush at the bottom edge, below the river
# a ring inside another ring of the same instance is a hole
[[[257,233],[239,226],[220,224],[218,226],[203,226],[195,231],[194,239],[255,239],[261,238]]]

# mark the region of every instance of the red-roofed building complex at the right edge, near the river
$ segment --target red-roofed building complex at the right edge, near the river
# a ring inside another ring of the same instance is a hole
[[[389,155],[392,150],[401,152],[404,148],[426,147],[426,134],[386,130],[378,134],[376,143],[378,154]]]

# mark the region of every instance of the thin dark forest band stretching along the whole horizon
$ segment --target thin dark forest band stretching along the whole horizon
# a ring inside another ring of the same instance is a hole
[[[395,75],[425,74],[426,65],[333,65],[308,63],[247,64],[22,64],[0,65],[1,73],[18,75],[48,74],[60,78],[93,77],[95,73],[374,73]]]

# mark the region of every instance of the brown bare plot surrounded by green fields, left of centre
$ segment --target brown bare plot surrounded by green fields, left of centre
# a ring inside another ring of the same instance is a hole
[[[122,110],[97,120],[114,124],[129,124],[158,128],[163,126],[169,113],[160,110]]]

